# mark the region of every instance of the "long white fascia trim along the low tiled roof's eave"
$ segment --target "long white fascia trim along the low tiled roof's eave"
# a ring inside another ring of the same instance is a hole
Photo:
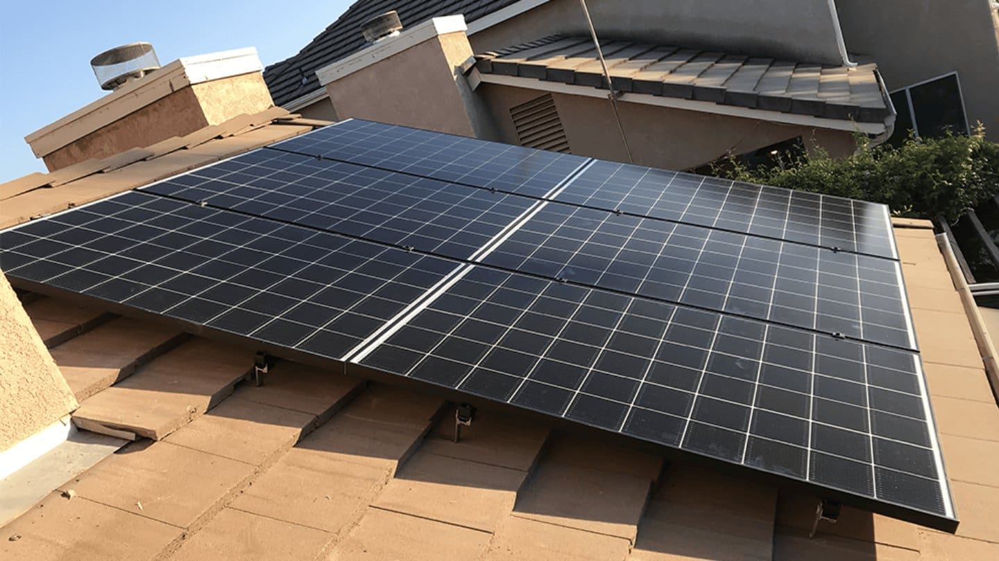
[[[470,75],[470,83],[476,83],[477,81],[483,84],[499,84],[513,88],[526,88],[528,90],[538,90],[542,92],[585,96],[603,100],[607,99],[606,90],[599,90],[589,86],[576,86],[572,84],[562,84],[560,82],[545,82],[543,80],[537,80],[536,78],[483,74],[479,72],[478,69],[473,70],[472,75]],[[754,119],[757,121],[768,121],[771,123],[797,125],[801,127],[813,127],[816,129],[828,129],[832,131],[846,131],[850,133],[860,131],[861,133],[867,135],[879,135],[886,130],[884,123],[855,123],[853,121],[824,119],[821,117],[810,117],[808,115],[794,115],[791,113],[779,113],[776,111],[763,111],[747,107],[721,105],[713,102],[668,98],[647,94],[626,93],[621,95],[618,99],[619,101],[625,103],[668,107],[671,109],[696,111],[698,113],[727,115],[729,117],[741,117],[743,119]]]

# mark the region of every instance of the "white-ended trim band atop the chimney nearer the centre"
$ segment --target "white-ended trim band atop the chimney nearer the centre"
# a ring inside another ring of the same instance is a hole
[[[345,76],[350,76],[355,72],[378,64],[424,41],[429,41],[448,33],[464,33],[467,29],[465,16],[463,15],[445,16],[427,20],[410,29],[404,29],[397,37],[383,39],[333,64],[324,66],[316,71],[316,76],[319,77],[319,83],[325,87],[331,82],[336,82]]]

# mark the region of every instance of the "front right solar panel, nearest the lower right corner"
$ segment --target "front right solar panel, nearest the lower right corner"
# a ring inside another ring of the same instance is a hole
[[[944,508],[918,355],[908,351],[476,268],[362,363],[889,502]],[[889,459],[889,448],[908,460]]]

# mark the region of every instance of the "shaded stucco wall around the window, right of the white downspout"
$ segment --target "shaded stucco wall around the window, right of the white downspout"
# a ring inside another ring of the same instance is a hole
[[[851,52],[877,61],[889,90],[958,72],[968,122],[999,138],[999,19],[988,0],[836,0]]]

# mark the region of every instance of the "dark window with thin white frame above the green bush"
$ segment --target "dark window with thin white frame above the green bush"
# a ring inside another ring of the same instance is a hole
[[[946,131],[971,133],[956,72],[893,92],[891,103],[898,113],[889,141],[894,146],[901,145],[909,131],[917,138],[940,137]]]

